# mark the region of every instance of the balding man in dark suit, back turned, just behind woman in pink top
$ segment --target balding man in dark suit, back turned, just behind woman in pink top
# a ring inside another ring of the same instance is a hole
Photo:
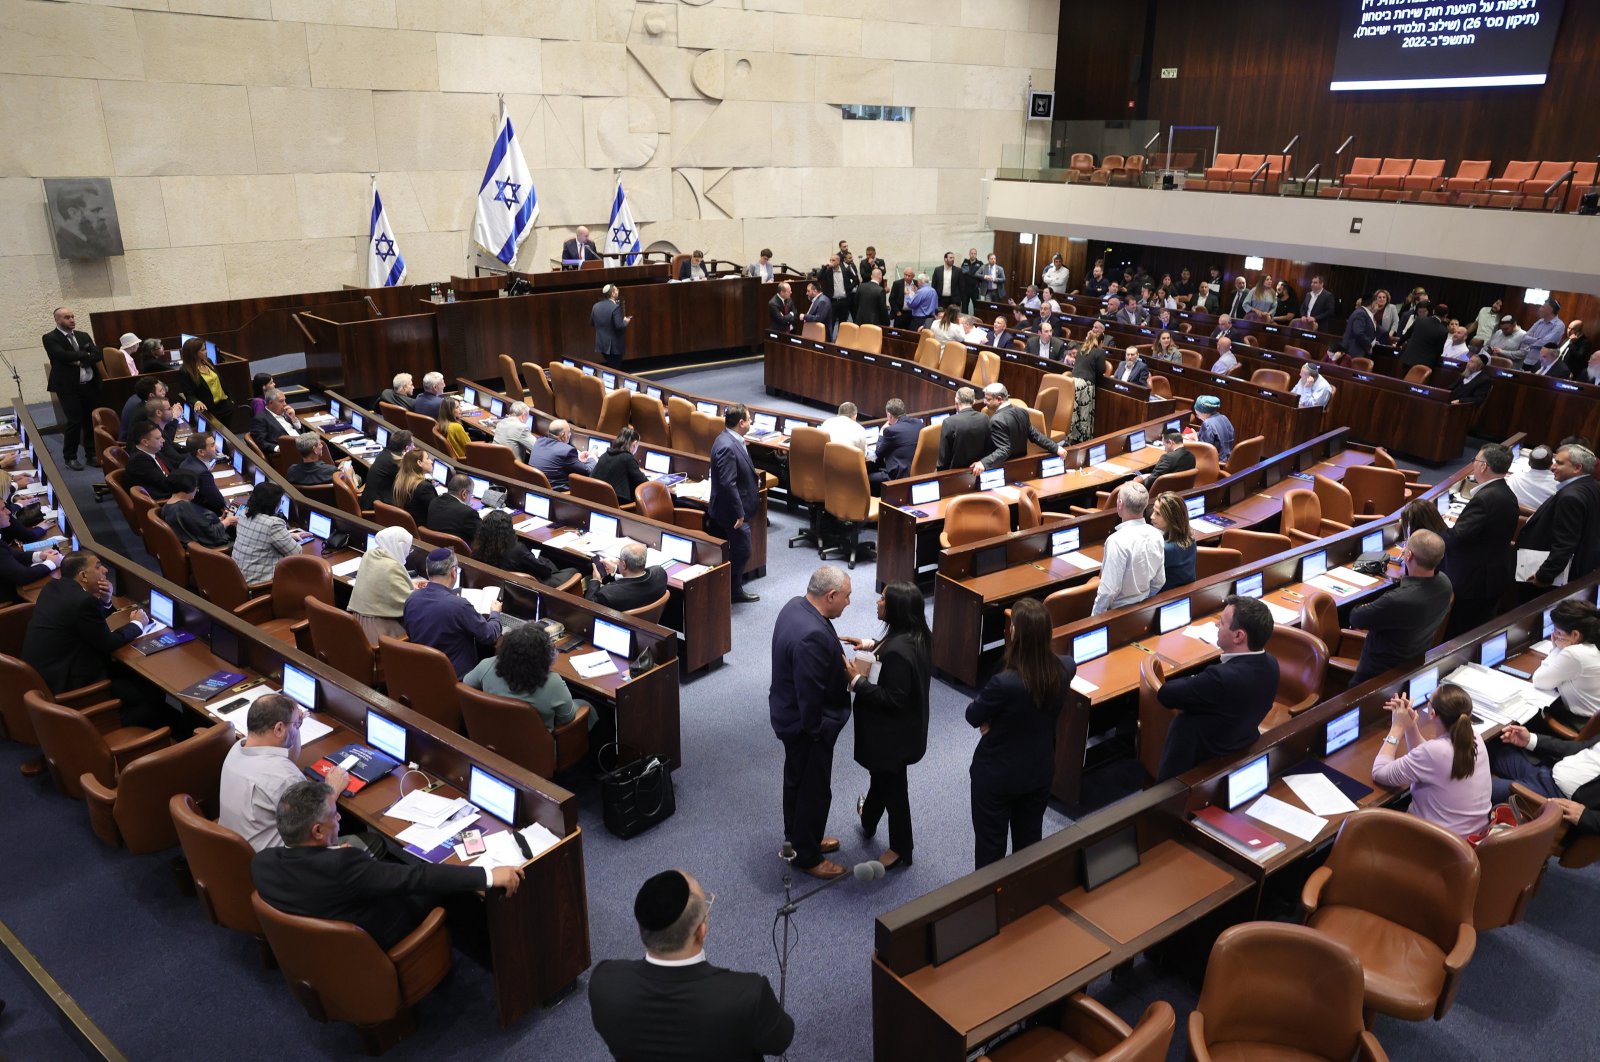
[[[1450,611],[1450,576],[1440,571],[1445,539],[1413,531],[1400,553],[1400,582],[1350,613],[1350,627],[1366,632],[1350,686],[1419,659],[1434,648],[1440,619]]]

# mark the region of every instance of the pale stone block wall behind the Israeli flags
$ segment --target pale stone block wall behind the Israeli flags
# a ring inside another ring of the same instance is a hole
[[[1054,83],[1058,0],[0,0],[0,350],[43,397],[70,304],[363,280],[376,173],[410,280],[467,267],[504,93],[547,269],[610,216],[645,246],[931,266],[982,237],[982,178]],[[838,104],[915,107],[846,122]],[[43,178],[109,176],[126,253],[54,254]],[[597,237],[598,242],[598,237]],[[96,336],[114,344],[115,336]]]

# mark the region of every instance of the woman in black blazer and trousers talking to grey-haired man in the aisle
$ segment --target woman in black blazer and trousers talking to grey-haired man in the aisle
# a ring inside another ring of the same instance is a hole
[[[891,582],[878,597],[882,641],[859,641],[882,664],[878,681],[856,683],[856,763],[872,777],[856,801],[861,830],[872,836],[878,819],[890,816],[890,846],[878,856],[888,870],[910,865],[910,793],[906,768],[928,750],[928,678],[933,675],[933,635],[923,614],[922,590],[914,582]],[[858,657],[861,661],[861,657]],[[856,664],[861,675],[870,667]]]

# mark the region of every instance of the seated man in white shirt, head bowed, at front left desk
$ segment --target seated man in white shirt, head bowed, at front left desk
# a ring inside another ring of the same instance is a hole
[[[245,718],[250,733],[222,760],[218,822],[259,852],[283,843],[278,836],[278,798],[290,785],[306,781],[296,765],[306,709],[280,693],[269,693],[250,705]],[[334,793],[342,793],[350,777],[334,768],[328,771],[326,782]]]

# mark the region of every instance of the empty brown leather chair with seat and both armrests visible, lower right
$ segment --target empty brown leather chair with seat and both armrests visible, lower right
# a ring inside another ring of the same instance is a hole
[[[1346,816],[1301,891],[1306,924],[1362,960],[1365,1009],[1445,1017],[1477,948],[1478,859],[1450,830],[1387,808]]]

